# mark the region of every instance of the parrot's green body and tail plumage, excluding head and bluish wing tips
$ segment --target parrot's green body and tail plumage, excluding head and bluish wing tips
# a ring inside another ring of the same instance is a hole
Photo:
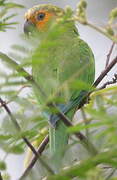
[[[59,97],[54,99],[56,104],[65,105],[75,100],[78,105],[81,91],[89,90],[94,81],[94,56],[87,43],[80,39],[73,21],[52,22],[49,27],[48,32],[39,33],[40,45],[32,57],[33,77],[46,96],[37,90],[35,93],[41,104],[56,94],[55,97]],[[88,86],[81,90],[73,88],[79,80]],[[70,120],[76,108],[66,114]],[[50,149],[56,167],[61,164],[67,145],[66,129],[61,120],[56,128],[50,126]]]

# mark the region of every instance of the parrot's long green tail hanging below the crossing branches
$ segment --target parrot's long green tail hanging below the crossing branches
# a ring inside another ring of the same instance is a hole
[[[74,111],[67,113],[67,117],[71,120],[73,118]],[[50,127],[49,129],[50,139],[50,151],[52,156],[52,163],[54,170],[57,172],[61,165],[64,157],[65,150],[68,144],[68,133],[65,124],[59,120],[56,127]]]

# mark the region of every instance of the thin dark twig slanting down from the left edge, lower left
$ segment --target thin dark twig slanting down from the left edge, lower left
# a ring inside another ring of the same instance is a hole
[[[17,122],[17,120],[15,119],[15,117],[13,116],[13,114],[11,113],[9,107],[6,105],[6,103],[2,100],[2,98],[0,98],[0,103],[2,105],[2,107],[6,110],[6,112],[8,113],[11,121],[13,122],[13,124],[15,125],[16,129],[21,132],[21,128]],[[45,161],[43,161],[40,158],[40,154],[38,154],[38,152],[35,150],[34,146],[29,142],[29,140],[25,137],[22,136],[23,141],[27,144],[27,146],[30,148],[30,150],[33,152],[33,154],[35,155],[35,157],[37,159],[39,159],[39,161],[41,162],[41,164],[46,168],[46,170],[48,170],[49,173],[54,174],[53,170],[46,164]]]

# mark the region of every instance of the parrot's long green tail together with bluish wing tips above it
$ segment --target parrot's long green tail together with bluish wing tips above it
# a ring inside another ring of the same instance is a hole
[[[72,120],[76,107],[79,106],[85,95],[86,91],[85,93],[83,92],[82,95],[80,93],[74,101],[69,102],[67,105],[59,105],[58,107],[70,120]],[[67,127],[62,120],[60,120],[59,116],[52,115],[50,123],[53,126],[50,126],[49,130],[50,151],[55,171],[58,171],[62,165],[63,156],[67,148],[68,133]]]

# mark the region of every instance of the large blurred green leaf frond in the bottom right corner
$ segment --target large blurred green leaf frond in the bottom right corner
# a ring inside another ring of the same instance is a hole
[[[68,169],[62,170],[58,175],[49,176],[47,180],[59,180],[60,177],[68,177],[71,179],[81,177],[86,179],[89,170],[100,164],[107,164],[117,168],[117,150],[102,152],[93,158],[84,160],[78,165],[73,165]]]

